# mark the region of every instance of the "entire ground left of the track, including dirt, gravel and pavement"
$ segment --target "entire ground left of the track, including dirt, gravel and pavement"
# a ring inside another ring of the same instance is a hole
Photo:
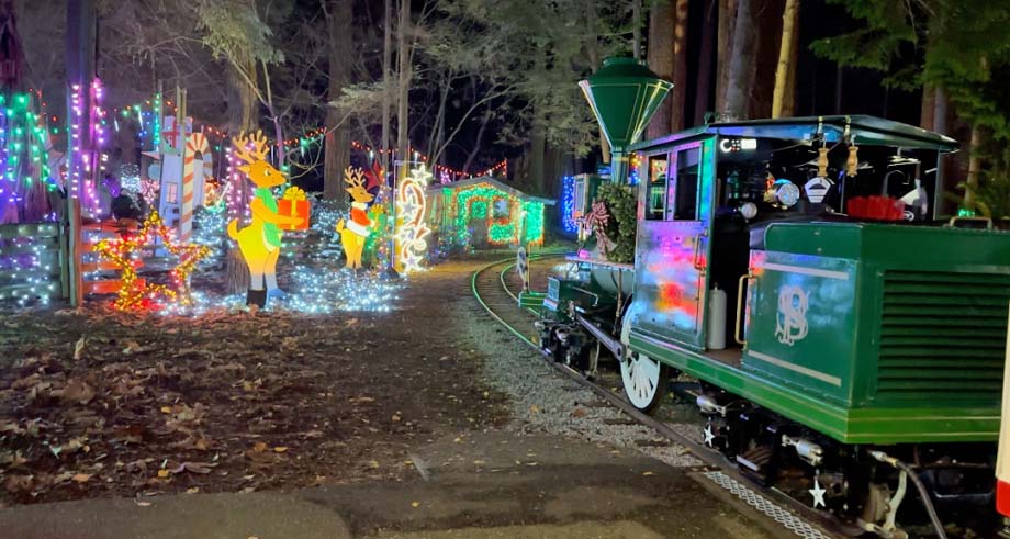
[[[0,529],[782,537],[495,325],[483,263],[412,278],[385,314],[0,312]]]

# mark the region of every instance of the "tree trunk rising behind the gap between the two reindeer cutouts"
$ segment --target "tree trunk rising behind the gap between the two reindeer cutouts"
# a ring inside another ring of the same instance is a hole
[[[351,43],[352,0],[329,2],[329,101],[336,101],[350,82],[354,50]],[[323,161],[323,198],[336,200],[337,206],[347,209],[347,191],[343,189],[344,170],[350,165],[350,134],[346,119],[334,106],[326,108],[326,138]]]

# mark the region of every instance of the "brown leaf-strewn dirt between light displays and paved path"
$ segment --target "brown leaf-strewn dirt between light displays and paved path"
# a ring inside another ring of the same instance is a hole
[[[400,481],[508,420],[433,271],[392,313],[0,312],[0,506]]]

